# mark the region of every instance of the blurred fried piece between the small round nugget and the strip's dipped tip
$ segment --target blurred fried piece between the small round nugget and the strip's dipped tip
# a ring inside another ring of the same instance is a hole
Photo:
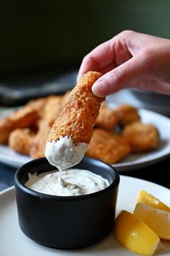
[[[47,126],[37,132],[30,148],[31,158],[42,158],[45,156],[45,145],[48,140],[50,129],[51,127]]]

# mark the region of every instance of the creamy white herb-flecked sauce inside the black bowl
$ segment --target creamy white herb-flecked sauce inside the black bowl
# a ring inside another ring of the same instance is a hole
[[[48,171],[39,175],[29,174],[29,180],[24,185],[48,195],[74,196],[102,190],[109,186],[109,182],[91,171],[71,168],[62,172]]]

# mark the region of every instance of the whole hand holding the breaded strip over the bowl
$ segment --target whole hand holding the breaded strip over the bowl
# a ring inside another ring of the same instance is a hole
[[[170,40],[122,31],[84,57],[77,80],[89,70],[103,74],[92,87],[99,97],[124,88],[170,95]]]

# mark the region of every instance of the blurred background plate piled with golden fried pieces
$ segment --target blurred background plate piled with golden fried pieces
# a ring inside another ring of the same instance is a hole
[[[0,112],[0,161],[19,167],[45,155],[56,117],[70,92],[28,102]],[[104,101],[86,155],[130,171],[170,155],[170,120],[153,111]]]

